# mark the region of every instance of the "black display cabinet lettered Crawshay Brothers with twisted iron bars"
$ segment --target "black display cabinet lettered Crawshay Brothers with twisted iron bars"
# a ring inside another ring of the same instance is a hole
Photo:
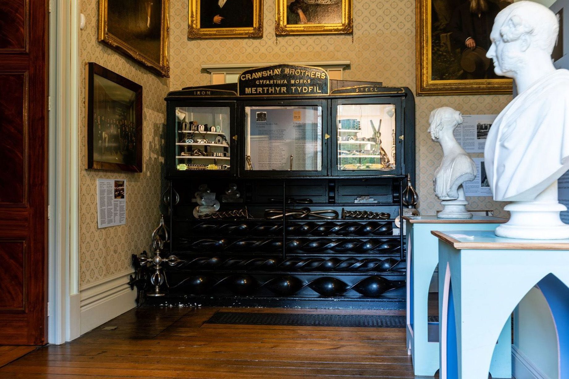
[[[277,65],[166,102],[167,255],[179,261],[148,301],[403,309],[408,88]]]

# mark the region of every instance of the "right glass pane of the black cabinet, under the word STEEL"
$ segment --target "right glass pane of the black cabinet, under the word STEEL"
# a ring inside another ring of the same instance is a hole
[[[340,170],[395,168],[395,105],[339,105],[337,114]]]

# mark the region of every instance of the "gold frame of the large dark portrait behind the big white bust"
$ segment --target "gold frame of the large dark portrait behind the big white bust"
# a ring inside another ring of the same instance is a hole
[[[464,78],[465,72],[456,78],[442,79],[436,77],[437,72],[444,72],[445,75],[451,76],[453,72],[457,72],[457,69],[454,71],[450,69],[434,70],[433,52],[436,50],[436,53],[440,54],[441,50],[448,50],[447,58],[453,54],[455,56],[454,64],[457,65],[459,63],[456,61],[456,54],[464,47],[461,45],[456,48],[452,47],[451,32],[446,32],[448,28],[440,32],[441,27],[436,26],[436,24],[440,24],[440,20],[435,23],[435,28],[438,30],[436,36],[433,35],[432,4],[431,0],[417,0],[417,95],[511,94],[512,79],[509,78],[489,78],[488,74],[485,74],[486,78],[481,79]],[[448,14],[439,19],[448,19]],[[434,40],[436,45],[433,43]],[[441,46],[444,48],[440,48]],[[448,60],[436,59],[439,68],[442,65],[441,62],[445,61],[448,64]],[[488,61],[486,61],[487,64]],[[490,71],[492,68],[493,65],[490,61],[488,70]]]

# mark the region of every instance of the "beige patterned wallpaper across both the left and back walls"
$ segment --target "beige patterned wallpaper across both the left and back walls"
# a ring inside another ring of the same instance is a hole
[[[287,36],[275,38],[275,2],[265,0],[262,39],[188,40],[188,1],[170,0],[170,80],[156,77],[132,61],[97,42],[97,2],[81,1],[87,26],[81,31],[81,62],[94,61],[138,82],[144,88],[144,172],[123,174],[80,169],[80,284],[88,284],[130,269],[131,253],[149,245],[150,232],[159,217],[164,161],[164,96],[168,90],[209,84],[201,64],[263,61],[351,61],[347,80],[382,81],[385,85],[415,90],[415,1],[354,1],[354,35]],[[85,100],[84,74],[81,101]],[[432,109],[451,106],[464,114],[498,113],[509,95],[416,98],[417,190],[419,210],[434,214],[440,207],[432,190],[432,176],[442,151],[427,133]],[[84,105],[81,120],[85,118]],[[84,126],[81,141],[85,140]],[[481,154],[473,156],[482,156]],[[127,224],[97,229],[96,178],[126,178]],[[501,209],[489,197],[472,197],[469,209]],[[503,211],[496,215],[506,216]]]

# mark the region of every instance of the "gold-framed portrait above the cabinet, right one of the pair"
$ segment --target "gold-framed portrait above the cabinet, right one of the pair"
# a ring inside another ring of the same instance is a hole
[[[352,0],[277,0],[277,35],[352,32]]]

